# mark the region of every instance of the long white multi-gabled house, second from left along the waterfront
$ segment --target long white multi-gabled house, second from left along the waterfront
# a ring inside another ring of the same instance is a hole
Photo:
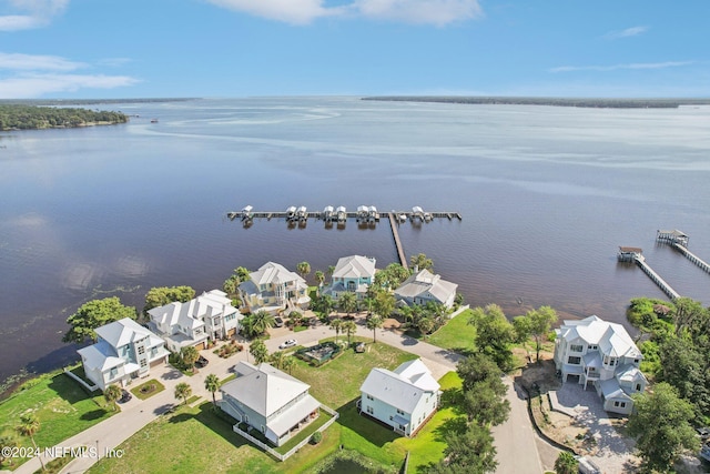
[[[244,317],[220,290],[202,293],[185,303],[175,301],[148,311],[149,326],[173,352],[189,345],[204,349],[207,339],[231,337]]]

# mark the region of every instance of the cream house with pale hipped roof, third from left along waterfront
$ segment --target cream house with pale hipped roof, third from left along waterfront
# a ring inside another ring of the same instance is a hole
[[[272,314],[285,309],[305,310],[311,303],[306,281],[274,262],[250,273],[250,280],[240,284],[240,296],[251,312]]]

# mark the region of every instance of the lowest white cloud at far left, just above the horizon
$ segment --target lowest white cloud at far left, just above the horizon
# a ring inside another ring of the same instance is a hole
[[[79,89],[114,89],[133,85],[139,80],[128,75],[103,74],[32,74],[0,79],[0,99],[32,99],[48,93],[73,92]]]

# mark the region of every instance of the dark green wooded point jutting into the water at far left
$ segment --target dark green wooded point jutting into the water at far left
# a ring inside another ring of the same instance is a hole
[[[113,125],[128,121],[126,114],[105,110],[0,104],[0,131]]]

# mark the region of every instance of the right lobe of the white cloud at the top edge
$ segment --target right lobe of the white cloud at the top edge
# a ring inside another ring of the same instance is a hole
[[[364,17],[443,27],[481,14],[477,0],[356,0]]]

